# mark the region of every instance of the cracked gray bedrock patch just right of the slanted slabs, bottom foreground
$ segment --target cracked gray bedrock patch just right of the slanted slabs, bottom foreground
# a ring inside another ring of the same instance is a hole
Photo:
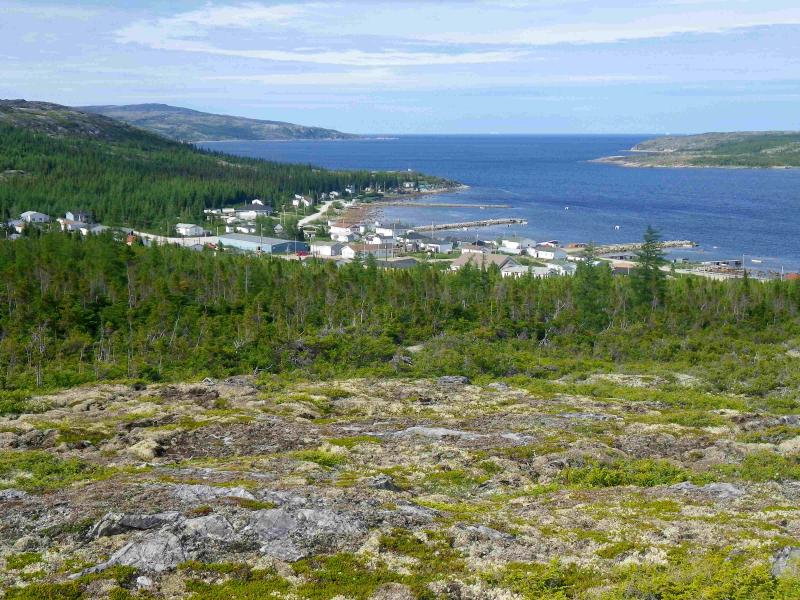
[[[332,552],[367,532],[364,523],[330,509],[255,511],[248,530],[261,544],[261,552],[285,561],[296,561],[319,552]]]

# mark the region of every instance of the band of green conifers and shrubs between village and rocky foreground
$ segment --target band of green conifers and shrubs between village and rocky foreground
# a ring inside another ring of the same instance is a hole
[[[509,280],[61,234],[0,243],[0,280],[5,388],[254,369],[557,376],[550,360],[669,363],[759,394],[800,383],[786,354],[800,344],[794,282],[612,278],[585,265],[574,278]],[[420,342],[423,355],[400,358]]]

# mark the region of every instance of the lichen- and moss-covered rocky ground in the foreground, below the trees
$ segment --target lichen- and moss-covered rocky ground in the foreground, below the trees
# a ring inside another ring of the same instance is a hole
[[[108,385],[0,418],[6,598],[800,597],[800,416],[688,376]]]

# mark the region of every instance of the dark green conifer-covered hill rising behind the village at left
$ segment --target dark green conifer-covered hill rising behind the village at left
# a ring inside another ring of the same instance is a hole
[[[169,231],[203,209],[261,198],[274,208],[348,186],[401,187],[419,174],[331,171],[204,151],[67,106],[0,100],[0,220],[88,210],[105,225]]]

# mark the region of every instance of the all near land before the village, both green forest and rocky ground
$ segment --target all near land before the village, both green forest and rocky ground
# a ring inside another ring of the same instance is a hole
[[[550,279],[0,242],[2,593],[800,596],[800,285],[648,236]]]

